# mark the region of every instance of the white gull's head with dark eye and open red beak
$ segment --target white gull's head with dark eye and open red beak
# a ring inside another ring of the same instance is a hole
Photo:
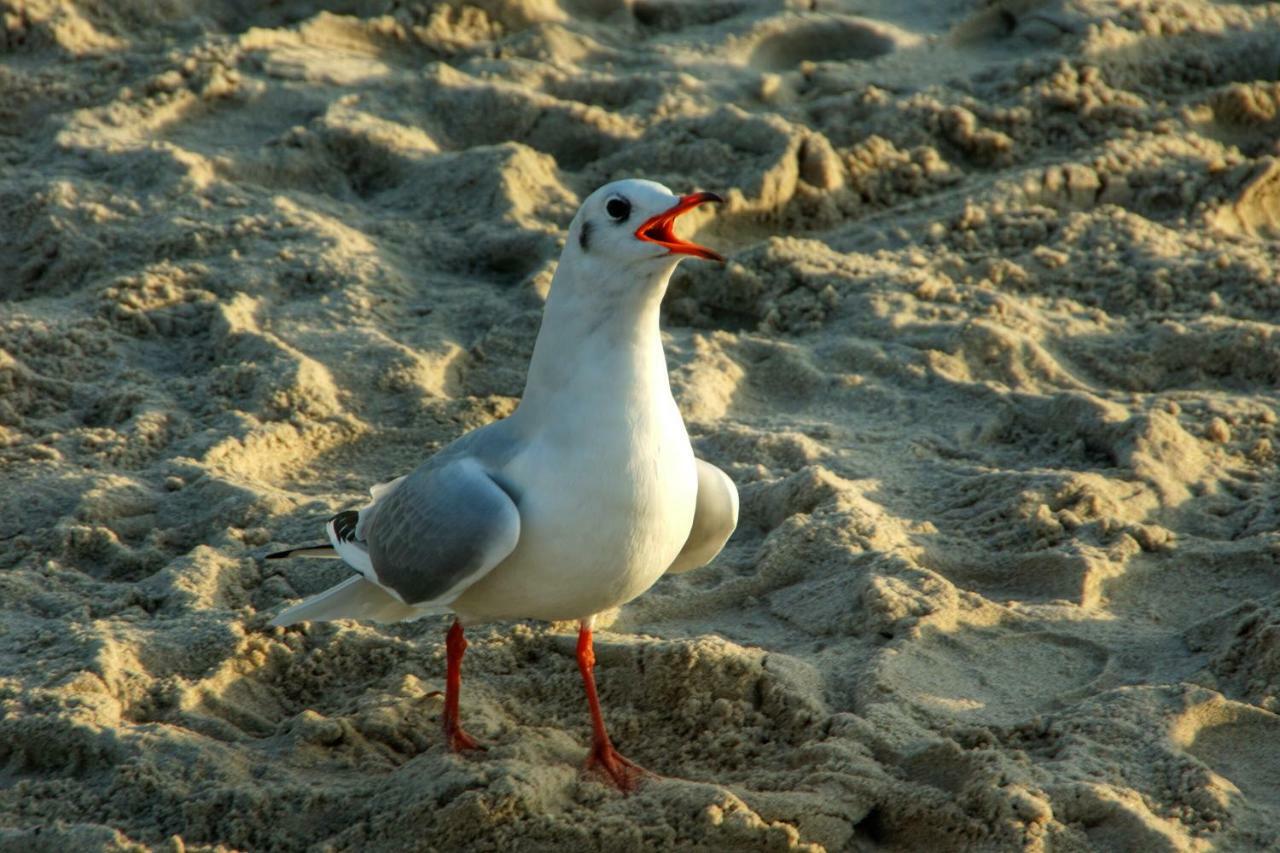
[[[677,196],[653,181],[614,181],[582,202],[570,225],[570,251],[613,264],[644,264],[669,270],[685,255],[723,263],[719,254],[676,236],[676,219],[709,201],[714,192]]]

